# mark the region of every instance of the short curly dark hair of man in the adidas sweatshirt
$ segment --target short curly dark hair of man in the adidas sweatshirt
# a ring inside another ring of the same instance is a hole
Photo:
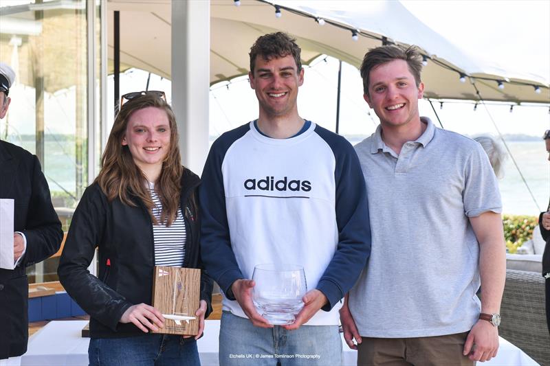
[[[265,34],[256,39],[254,45],[250,47],[250,72],[254,74],[254,63],[256,57],[260,56],[263,60],[269,61],[272,58],[286,57],[292,55],[297,71],[302,69],[302,61],[300,60],[300,53],[302,50],[296,44],[296,38],[292,38],[284,32],[276,32]]]

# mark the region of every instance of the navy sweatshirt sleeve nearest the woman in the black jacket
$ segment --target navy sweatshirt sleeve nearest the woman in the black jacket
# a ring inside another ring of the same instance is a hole
[[[228,299],[228,293],[236,279],[244,278],[231,248],[225,190],[221,165],[231,144],[227,135],[214,141],[204,165],[199,187],[201,205],[201,258],[210,277],[219,284]]]

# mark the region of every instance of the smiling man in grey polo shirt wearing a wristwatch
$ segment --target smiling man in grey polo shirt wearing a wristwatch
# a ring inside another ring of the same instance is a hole
[[[340,319],[358,365],[472,365],[498,350],[498,184],[478,143],[419,116],[421,60],[415,47],[382,46],[361,67],[380,126],[355,146],[372,251]]]

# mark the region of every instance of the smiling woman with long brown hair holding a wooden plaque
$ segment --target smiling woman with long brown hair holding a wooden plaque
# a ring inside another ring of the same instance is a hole
[[[162,92],[123,95],[102,168],[85,190],[58,267],[90,315],[90,365],[199,365],[196,340],[212,311],[201,272],[199,334],[151,334],[166,319],[151,306],[154,266],[201,268],[196,191],[181,166],[175,115]],[[87,270],[98,248],[99,276]]]

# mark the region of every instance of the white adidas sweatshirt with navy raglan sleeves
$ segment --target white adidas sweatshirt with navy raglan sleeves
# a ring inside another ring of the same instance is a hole
[[[201,258],[223,290],[223,310],[246,317],[228,290],[251,279],[257,264],[300,264],[307,290],[329,300],[307,325],[338,325],[342,297],[371,251],[366,188],[351,144],[314,123],[272,139],[250,122],[214,141],[201,180]]]

